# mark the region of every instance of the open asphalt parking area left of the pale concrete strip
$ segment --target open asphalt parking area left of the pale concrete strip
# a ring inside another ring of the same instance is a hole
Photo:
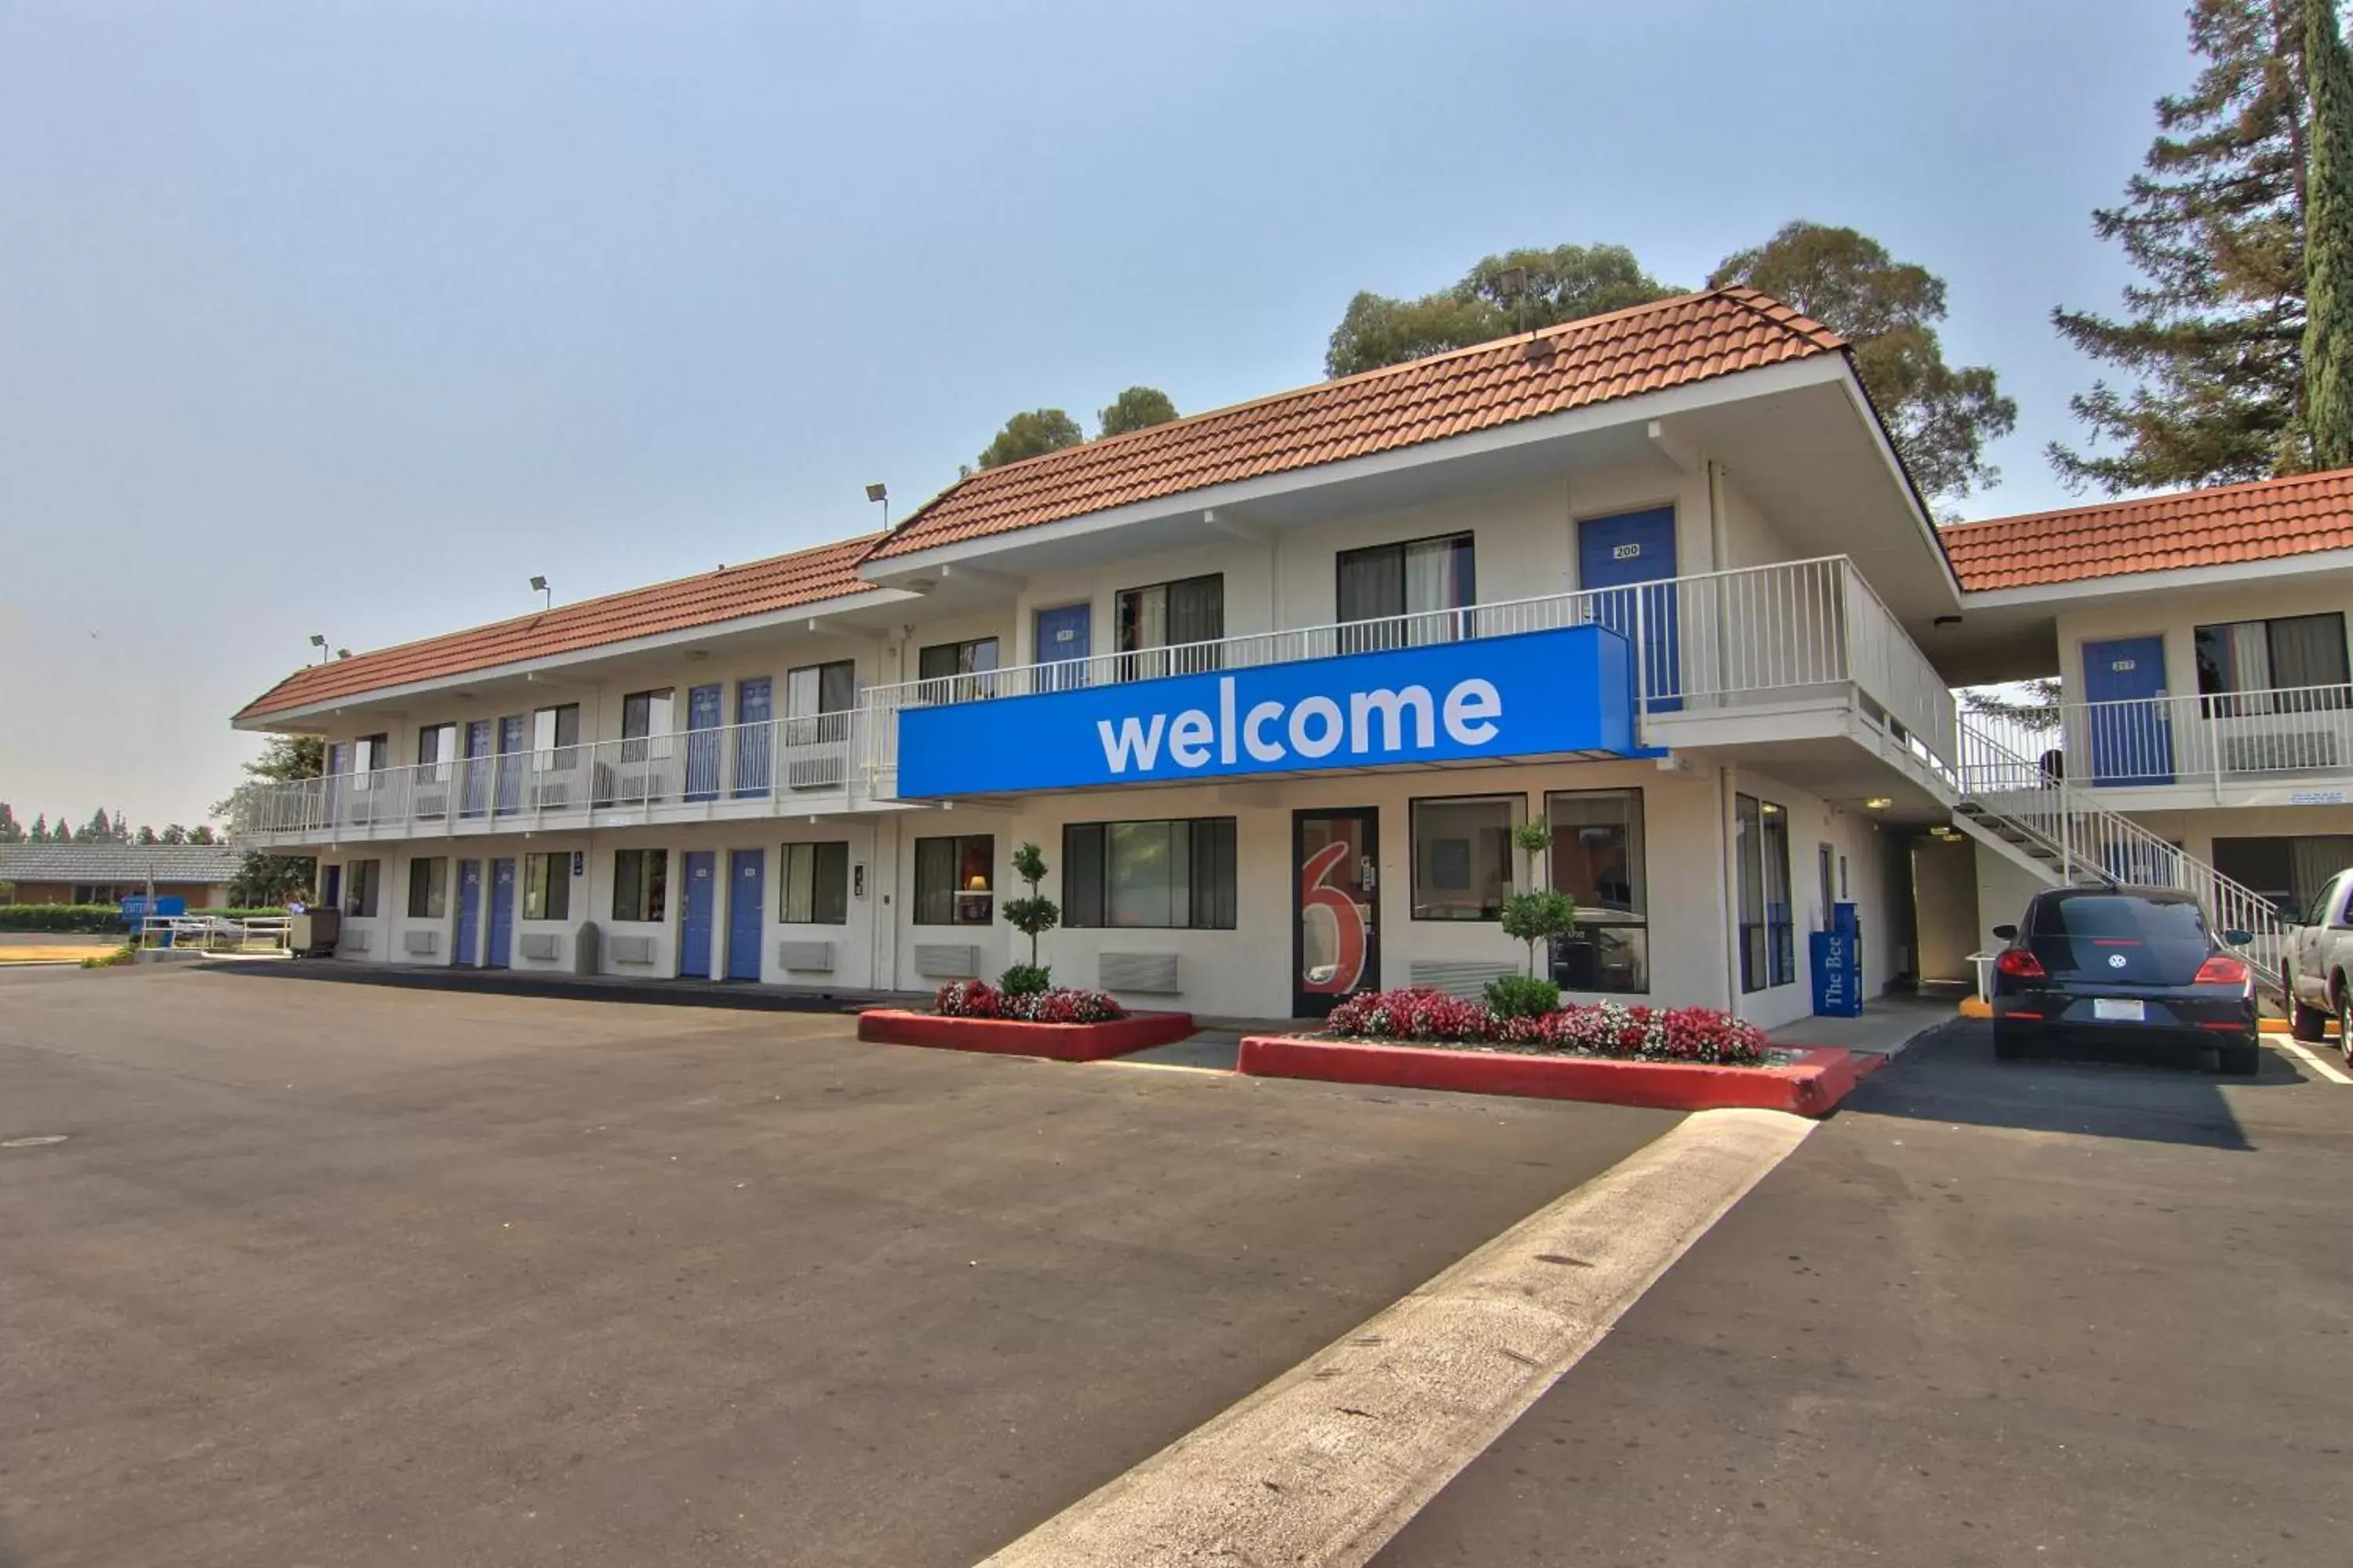
[[[972,1563],[1668,1126],[0,983],[0,1563]]]

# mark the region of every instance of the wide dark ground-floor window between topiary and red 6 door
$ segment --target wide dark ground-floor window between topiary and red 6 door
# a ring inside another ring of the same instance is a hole
[[[1061,924],[1233,931],[1233,818],[1071,823],[1061,830]]]

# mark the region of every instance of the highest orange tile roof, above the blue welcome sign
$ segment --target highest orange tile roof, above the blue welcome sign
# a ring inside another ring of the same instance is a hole
[[[1529,357],[1529,341],[1511,336],[984,468],[901,522],[873,559],[1845,348],[1828,327],[1744,287],[1591,315],[1534,339],[1553,353]]]

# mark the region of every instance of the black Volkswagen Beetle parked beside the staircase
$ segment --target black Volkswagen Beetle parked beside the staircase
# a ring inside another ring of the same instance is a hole
[[[2205,910],[2177,889],[2052,889],[2035,893],[1993,961],[1993,1053],[2122,1056],[2212,1046],[2221,1070],[2252,1074],[2254,976],[2217,943]]]

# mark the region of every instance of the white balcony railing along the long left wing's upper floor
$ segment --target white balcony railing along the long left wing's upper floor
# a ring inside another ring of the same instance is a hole
[[[856,769],[859,715],[805,717],[633,736],[586,745],[452,757],[372,773],[332,773],[238,795],[242,837],[315,832],[456,832],[539,827],[551,818],[649,806],[718,806],[845,792]]]

